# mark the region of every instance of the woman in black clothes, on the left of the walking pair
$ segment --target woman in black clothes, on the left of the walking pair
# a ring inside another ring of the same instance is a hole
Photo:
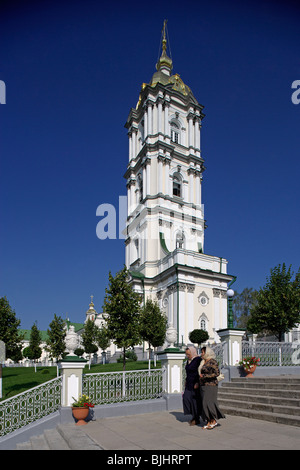
[[[190,426],[195,426],[200,423],[201,414],[201,398],[199,392],[199,374],[198,367],[201,357],[197,354],[194,346],[189,346],[185,350],[187,363],[185,366],[186,381],[185,390],[183,393],[183,412],[185,415],[192,415],[192,420],[189,421]]]

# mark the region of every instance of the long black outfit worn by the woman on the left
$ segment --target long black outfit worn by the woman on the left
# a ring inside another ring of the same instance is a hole
[[[196,356],[190,363],[186,364],[186,383],[182,397],[184,414],[192,415],[192,419],[197,422],[199,422],[201,415],[201,397],[199,386],[195,389],[194,385],[199,385],[198,367],[200,362],[201,357]]]

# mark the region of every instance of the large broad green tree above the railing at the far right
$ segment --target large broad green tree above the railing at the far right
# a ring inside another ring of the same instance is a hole
[[[279,341],[300,323],[300,269],[294,273],[283,263],[271,269],[266,285],[257,295],[247,328],[252,333],[271,332]]]

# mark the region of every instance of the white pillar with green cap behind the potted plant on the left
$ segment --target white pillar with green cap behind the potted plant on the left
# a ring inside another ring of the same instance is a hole
[[[62,371],[62,406],[71,406],[79,398],[79,395],[82,395],[82,372],[86,363],[85,359],[78,356],[67,356],[60,362]]]

